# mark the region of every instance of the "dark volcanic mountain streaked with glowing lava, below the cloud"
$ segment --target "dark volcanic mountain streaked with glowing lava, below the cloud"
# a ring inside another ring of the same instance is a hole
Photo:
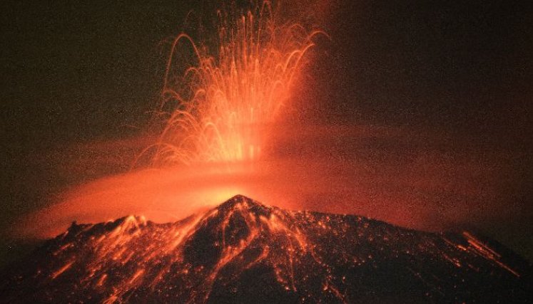
[[[525,303],[530,266],[469,232],[235,196],[170,224],[73,223],[6,269],[3,303]]]

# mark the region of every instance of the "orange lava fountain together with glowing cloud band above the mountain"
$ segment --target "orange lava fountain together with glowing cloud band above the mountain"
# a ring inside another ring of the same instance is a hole
[[[271,11],[267,2],[237,20],[220,17],[211,48],[178,36],[166,67],[158,112],[165,127],[158,139],[96,142],[61,153],[75,155],[57,166],[65,171],[58,180],[73,186],[10,232],[51,237],[72,221],[129,214],[176,221],[235,194],[284,209],[357,214],[435,231],[486,219],[489,209],[482,204],[508,199],[501,196],[515,185],[500,189],[512,170],[503,168],[498,176],[490,169],[507,161],[498,152],[443,157],[439,145],[416,142],[419,131],[288,119],[289,109],[306,102],[295,92],[303,87],[303,63],[320,32],[279,22]],[[184,43],[193,46],[196,59],[181,75],[174,61]],[[133,154],[154,165],[124,173]]]

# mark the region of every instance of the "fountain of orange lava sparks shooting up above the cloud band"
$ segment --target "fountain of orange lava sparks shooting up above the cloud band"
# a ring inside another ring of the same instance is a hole
[[[257,159],[319,33],[278,24],[268,1],[236,20],[222,14],[215,47],[186,33],[173,41],[159,112],[166,127],[145,151],[156,150],[156,164]],[[187,43],[196,64],[178,77],[174,59]]]

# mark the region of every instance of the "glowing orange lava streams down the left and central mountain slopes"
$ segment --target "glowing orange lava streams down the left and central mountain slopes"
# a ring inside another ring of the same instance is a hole
[[[268,214],[258,216],[258,214],[250,210],[250,207],[252,207],[250,204],[255,204],[255,202],[249,203],[243,196],[235,197],[233,200],[235,204],[230,209],[213,209],[211,211],[200,212],[193,218],[174,223],[170,226],[152,226],[152,229],[155,229],[151,233],[153,242],[146,244],[147,247],[143,250],[138,250],[136,243],[143,236],[146,236],[148,231],[146,219],[138,216],[127,216],[119,220],[120,223],[115,229],[103,234],[101,238],[91,238],[85,244],[93,248],[92,252],[95,256],[88,260],[86,267],[89,270],[89,274],[81,278],[81,284],[86,286],[94,284],[98,287],[112,285],[113,294],[108,296],[104,303],[115,303],[117,300],[127,297],[126,294],[128,291],[134,290],[146,280],[143,277],[146,272],[143,266],[153,266],[161,263],[160,261],[170,260],[171,263],[166,263],[158,271],[155,278],[151,279],[151,288],[155,289],[163,284],[161,280],[168,275],[171,267],[175,267],[176,265],[183,267],[183,271],[181,272],[183,276],[188,276],[191,270],[196,271],[197,274],[200,273],[200,275],[203,271],[207,271],[205,273],[205,283],[193,293],[194,302],[197,302],[198,298],[203,298],[205,301],[208,300],[213,284],[218,277],[218,272],[228,263],[235,262],[238,258],[243,259],[242,253],[249,249],[250,246],[253,246],[254,241],[265,237],[265,234],[270,234],[282,246],[286,246],[286,253],[270,252],[268,247],[262,248],[261,253],[256,258],[253,258],[250,263],[246,263],[243,268],[250,268],[261,263],[263,260],[267,260],[269,263],[273,263],[275,267],[275,275],[278,283],[283,285],[286,290],[297,291],[298,288],[295,285],[294,274],[295,263],[301,263],[300,259],[309,253],[314,261],[325,268],[326,273],[328,273],[324,290],[332,290],[337,298],[343,300],[343,296],[338,293],[333,285],[333,276],[330,275],[332,272],[330,267],[322,261],[320,253],[315,252],[316,244],[308,241],[305,234],[297,226],[292,226],[293,223],[298,222],[297,216],[300,213],[261,207],[268,210]],[[191,241],[191,238],[198,230],[205,229],[205,225],[218,216],[222,217],[220,222],[215,226],[215,229],[220,231],[221,236],[221,241],[217,245],[221,249],[217,263],[210,269],[200,268],[199,270],[191,269],[187,264],[181,265],[180,263],[183,261],[187,241]],[[249,233],[243,239],[238,239],[238,241],[233,239],[232,232],[226,231],[228,226],[230,226],[230,221],[235,221],[235,218],[243,219],[245,226],[249,229]],[[312,214],[307,214],[307,219],[313,222],[316,221]],[[89,224],[83,230],[88,231],[94,227],[95,225]],[[324,229],[331,228],[324,226]],[[70,231],[67,231],[63,237],[68,233]],[[72,245],[72,243],[69,244]],[[68,256],[72,253],[72,250],[73,246],[63,246],[57,254]],[[106,281],[106,278],[108,278],[106,272],[110,268],[123,267],[131,260],[134,254],[136,254],[137,261],[142,261],[141,264],[143,266],[136,266],[131,277],[126,278],[126,280],[118,282]],[[59,269],[59,271],[56,271],[56,273],[52,273],[51,279],[56,279],[61,273],[67,271],[72,264],[73,261]]]

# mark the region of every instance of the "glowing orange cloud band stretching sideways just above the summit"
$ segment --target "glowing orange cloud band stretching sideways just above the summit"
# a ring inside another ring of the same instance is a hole
[[[391,137],[395,141],[411,138],[401,130],[315,125],[288,125],[283,130],[283,136],[277,138],[282,148],[270,159],[136,169],[103,177],[69,189],[56,204],[19,221],[21,225],[13,227],[19,230],[13,232],[51,237],[72,221],[97,223],[128,214],[144,215],[156,222],[176,221],[235,194],[283,209],[357,214],[414,229],[442,231],[473,216],[485,216],[486,210],[477,204],[446,205],[443,209],[446,201],[427,194],[453,190],[457,196],[476,201],[487,197],[477,187],[479,182],[487,187],[499,182],[492,172],[442,163],[438,154],[426,154],[398,171],[396,156],[390,150],[375,152],[363,146],[369,139],[387,142]],[[335,146],[332,137],[352,139],[361,148],[347,154],[343,147]],[[104,146],[106,152],[110,145]],[[108,167],[108,162],[101,166]],[[72,174],[70,167],[75,173],[79,170],[73,163],[61,174]],[[450,176],[455,179],[442,183]]]

